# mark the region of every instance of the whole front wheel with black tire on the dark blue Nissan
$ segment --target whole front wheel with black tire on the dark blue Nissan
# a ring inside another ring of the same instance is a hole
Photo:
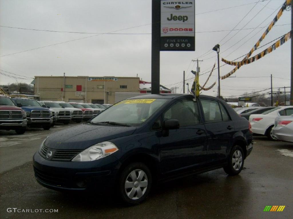
[[[122,170],[118,180],[118,194],[124,204],[136,205],[147,198],[151,186],[151,171],[145,164],[135,162]]]

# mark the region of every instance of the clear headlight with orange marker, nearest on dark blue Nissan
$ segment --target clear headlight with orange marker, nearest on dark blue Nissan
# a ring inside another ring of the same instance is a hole
[[[103,157],[107,157],[110,154],[116,152],[118,148],[112,142],[104,141],[93,145],[83,152],[77,154],[72,161],[93,161]]]

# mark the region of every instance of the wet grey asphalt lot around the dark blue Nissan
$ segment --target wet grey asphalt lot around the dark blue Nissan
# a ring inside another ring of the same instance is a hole
[[[47,135],[77,125],[29,129],[23,135],[0,131],[0,218],[292,217],[293,143],[263,136],[254,136],[253,151],[239,175],[227,176],[218,169],[161,183],[144,203],[133,207],[107,195],[61,193],[42,187],[34,178],[33,154]],[[264,212],[266,206],[281,205],[285,206],[282,212]],[[58,212],[43,212],[46,209]]]

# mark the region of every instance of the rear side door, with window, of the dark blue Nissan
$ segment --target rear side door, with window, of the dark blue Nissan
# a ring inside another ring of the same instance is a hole
[[[214,99],[200,99],[207,130],[207,162],[224,161],[232,147],[234,124],[224,105]]]

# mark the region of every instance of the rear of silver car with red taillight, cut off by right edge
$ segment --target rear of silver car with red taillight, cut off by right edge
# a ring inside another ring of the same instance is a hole
[[[278,140],[293,142],[293,114],[276,117],[272,134]]]

